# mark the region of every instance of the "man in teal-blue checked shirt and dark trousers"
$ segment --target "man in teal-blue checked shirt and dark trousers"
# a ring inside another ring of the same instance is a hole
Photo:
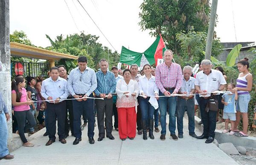
[[[106,135],[109,139],[115,139],[112,133],[112,115],[113,115],[113,98],[112,94],[116,91],[116,78],[111,71],[108,71],[108,61],[101,59],[99,61],[100,71],[96,73],[97,88],[94,91],[97,97],[104,98],[104,100],[95,100],[97,109],[97,120],[99,129],[98,141],[102,141],[105,137],[104,129],[104,112],[105,112],[105,126]]]

